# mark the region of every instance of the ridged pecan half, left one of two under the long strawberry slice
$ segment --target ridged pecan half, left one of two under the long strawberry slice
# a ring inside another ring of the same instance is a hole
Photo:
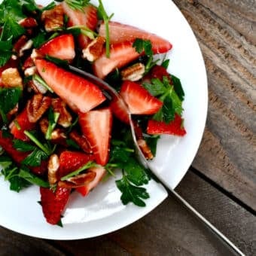
[[[50,97],[43,96],[41,93],[35,94],[32,99],[29,99],[26,105],[29,122],[36,123],[50,107]]]

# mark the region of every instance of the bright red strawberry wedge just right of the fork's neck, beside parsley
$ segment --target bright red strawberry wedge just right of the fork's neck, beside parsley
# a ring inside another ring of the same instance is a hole
[[[120,96],[128,105],[131,114],[154,114],[163,105],[163,102],[152,96],[142,85],[133,81],[123,81]]]

